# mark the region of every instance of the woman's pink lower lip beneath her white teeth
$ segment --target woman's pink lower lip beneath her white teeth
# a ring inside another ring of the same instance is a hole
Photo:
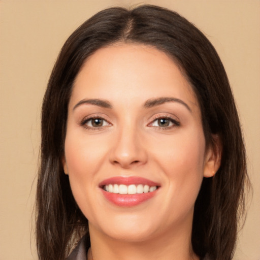
[[[119,207],[133,207],[141,203],[146,202],[147,200],[153,198],[157,193],[156,190],[147,193],[136,193],[136,194],[119,194],[105,191],[102,189],[102,192],[105,198],[112,202],[113,204]]]

